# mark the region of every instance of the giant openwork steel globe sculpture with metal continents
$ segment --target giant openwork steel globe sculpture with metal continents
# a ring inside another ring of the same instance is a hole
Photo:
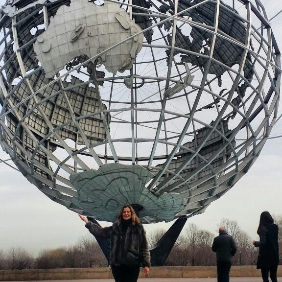
[[[205,211],[276,120],[280,52],[259,0],[8,0],[0,143],[72,211]]]

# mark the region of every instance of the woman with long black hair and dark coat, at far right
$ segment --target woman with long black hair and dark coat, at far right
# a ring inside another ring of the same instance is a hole
[[[277,282],[277,268],[279,264],[278,226],[268,211],[260,214],[258,225],[259,241],[253,244],[259,248],[257,269],[261,270],[263,282]]]

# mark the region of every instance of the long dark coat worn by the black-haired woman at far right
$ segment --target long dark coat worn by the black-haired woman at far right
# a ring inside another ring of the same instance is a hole
[[[258,269],[279,264],[278,226],[276,224],[262,227],[259,232],[259,241],[255,241],[254,245],[259,247]]]

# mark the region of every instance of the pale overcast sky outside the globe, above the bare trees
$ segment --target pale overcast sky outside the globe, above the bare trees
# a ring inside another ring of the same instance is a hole
[[[282,9],[281,0],[261,2],[269,18]],[[281,16],[272,22],[272,27],[282,50]],[[272,137],[279,135],[282,135],[282,120],[271,133]],[[282,139],[268,140],[250,171],[230,191],[212,202],[205,213],[189,218],[187,224],[196,223],[215,234],[222,218],[235,219],[252,238],[257,238],[261,211],[282,215],[281,142]],[[0,153],[1,159],[5,156]],[[0,164],[0,224],[0,250],[23,246],[34,255],[40,249],[73,245],[88,234],[77,213],[51,201],[20,172],[5,164]],[[145,229],[149,234],[157,228],[168,229],[171,224],[145,225]]]

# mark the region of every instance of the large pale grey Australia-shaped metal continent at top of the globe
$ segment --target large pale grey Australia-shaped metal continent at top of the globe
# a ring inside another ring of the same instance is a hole
[[[70,6],[61,6],[50,18],[47,30],[34,43],[34,51],[46,77],[51,78],[73,58],[92,58],[141,31],[117,3],[98,6],[88,0],[72,0]],[[130,70],[142,43],[141,33],[102,53],[99,62],[112,73]]]

